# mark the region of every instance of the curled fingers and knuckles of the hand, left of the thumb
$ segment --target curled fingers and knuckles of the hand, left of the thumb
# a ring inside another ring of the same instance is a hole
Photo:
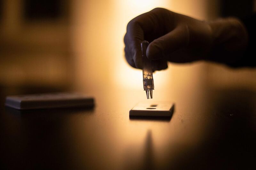
[[[127,62],[136,68],[142,69],[142,56],[140,43],[145,39],[153,41],[163,35],[166,25],[163,20],[168,17],[168,10],[156,8],[133,18],[127,25],[124,37],[125,57]],[[146,37],[145,37],[146,36]],[[132,62],[133,60],[133,62]]]

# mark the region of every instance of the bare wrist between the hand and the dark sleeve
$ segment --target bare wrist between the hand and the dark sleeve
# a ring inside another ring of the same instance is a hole
[[[212,31],[212,50],[207,60],[235,63],[248,45],[248,33],[238,18],[220,18],[208,22]]]

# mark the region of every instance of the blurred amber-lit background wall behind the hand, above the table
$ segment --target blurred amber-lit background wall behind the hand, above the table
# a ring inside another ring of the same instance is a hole
[[[0,0],[2,93],[17,88],[35,89],[30,93],[142,91],[142,72],[126,63],[123,37],[132,18],[156,7],[211,20],[249,15],[255,11],[256,2]],[[168,66],[154,74],[156,90],[183,89],[189,85],[256,90],[255,69],[231,69],[205,62]]]

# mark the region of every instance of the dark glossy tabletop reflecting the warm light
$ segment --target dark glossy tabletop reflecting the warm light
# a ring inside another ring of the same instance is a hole
[[[129,117],[143,90],[92,92],[93,109],[0,107],[1,166],[7,169],[235,169],[255,166],[256,94],[250,89],[154,91],[175,102],[170,119]]]

